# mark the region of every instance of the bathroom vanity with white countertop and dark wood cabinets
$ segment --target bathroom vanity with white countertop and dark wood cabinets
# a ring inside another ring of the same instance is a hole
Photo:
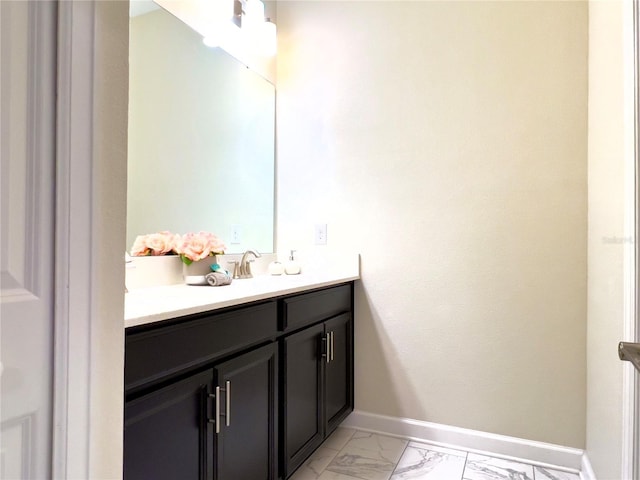
[[[353,410],[356,277],[296,277],[127,294],[126,480],[284,479]]]

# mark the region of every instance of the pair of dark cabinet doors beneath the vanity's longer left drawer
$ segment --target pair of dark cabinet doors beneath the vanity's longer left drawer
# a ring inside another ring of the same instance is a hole
[[[275,480],[271,343],[126,403],[125,480]]]

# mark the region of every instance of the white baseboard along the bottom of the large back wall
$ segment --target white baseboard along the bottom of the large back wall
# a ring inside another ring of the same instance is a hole
[[[491,453],[492,456],[525,460],[527,463],[578,472],[584,468],[584,451],[551,443],[524,440],[467,428],[423,422],[410,418],[387,417],[354,411],[342,424],[369,432],[386,433],[440,446]],[[590,465],[589,465],[590,469]],[[591,473],[593,471],[591,470]],[[595,476],[585,477],[595,480]]]

